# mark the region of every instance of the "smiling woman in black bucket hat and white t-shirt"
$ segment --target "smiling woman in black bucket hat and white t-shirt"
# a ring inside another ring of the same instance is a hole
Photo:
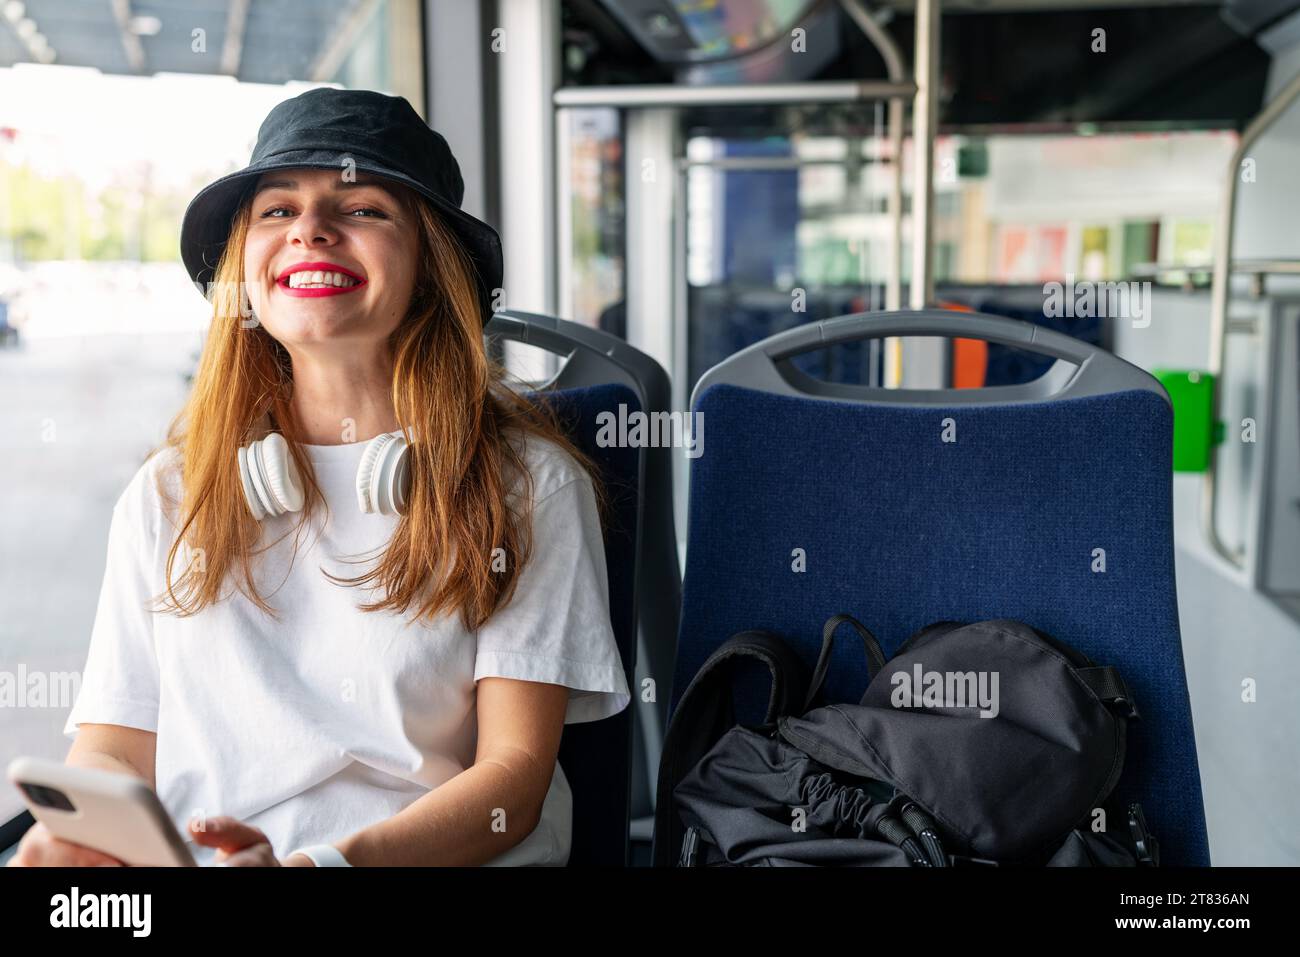
[[[186,211],[213,325],[65,733],[200,863],[568,858],[560,732],[629,701],[597,489],[485,355],[499,239],[462,192],[404,99],[312,90]],[[14,862],[117,863],[40,824]]]

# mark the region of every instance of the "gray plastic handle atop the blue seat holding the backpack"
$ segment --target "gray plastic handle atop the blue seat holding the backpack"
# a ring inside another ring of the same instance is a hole
[[[902,335],[983,339],[1048,355],[1056,361],[1032,382],[982,389],[883,389],[826,382],[800,371],[792,361],[796,356],[836,345]],[[705,389],[720,384],[781,395],[907,406],[1046,402],[1131,389],[1153,391],[1169,400],[1156,378],[1104,348],[1032,322],[948,309],[861,312],[777,333],[706,372],[696,385],[692,407]]]

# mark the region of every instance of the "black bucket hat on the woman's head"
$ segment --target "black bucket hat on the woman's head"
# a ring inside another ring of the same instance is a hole
[[[181,221],[181,259],[205,290],[230,234],[230,220],[261,173],[313,168],[394,179],[429,199],[478,272],[484,319],[502,285],[500,237],[460,208],[465,183],[447,140],[402,96],[370,90],[308,90],[278,103],[257,130],[248,165],[204,186]]]

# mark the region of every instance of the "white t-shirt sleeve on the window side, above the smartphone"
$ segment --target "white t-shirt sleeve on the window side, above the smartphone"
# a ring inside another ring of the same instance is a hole
[[[64,724],[68,736],[75,736],[82,722],[157,731],[159,668],[148,609],[155,594],[153,562],[146,547],[140,480],[136,476],[113,507],[90,651]]]

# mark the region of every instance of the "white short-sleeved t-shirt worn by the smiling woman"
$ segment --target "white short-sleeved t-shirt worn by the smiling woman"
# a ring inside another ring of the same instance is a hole
[[[456,614],[425,625],[407,624],[413,606],[406,615],[360,611],[380,593],[321,572],[352,577],[374,567],[396,525],[396,516],[358,507],[364,447],[306,446],[328,520],[317,510],[302,532],[292,531],[298,514],[263,520],[263,545],[289,531],[254,563],[278,623],[229,581],[231,594],[198,615],[148,611],[165,588],[176,534],[155,476],[174,451],[146,462],[113,508],[90,653],[64,733],[81,722],[156,732],[157,792],[182,833],[195,814],[229,814],[261,828],[283,857],[393,817],[473,765],[481,677],[567,685],[566,724],[607,718],[630,700],[610,627],[595,497],[572,456],[528,438],[533,555],[510,603],[472,633]],[[178,498],[179,480],[168,476]],[[186,554],[177,554],[177,577]],[[572,792],[556,762],[541,822],[490,863],[563,865],[571,830]],[[192,850],[199,863],[214,853]]]

